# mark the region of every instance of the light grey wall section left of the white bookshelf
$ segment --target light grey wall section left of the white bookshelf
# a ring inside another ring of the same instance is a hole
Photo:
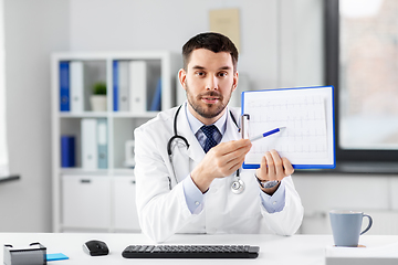
[[[6,0],[10,171],[0,186],[0,231],[51,231],[50,54],[69,49],[69,1]]]

